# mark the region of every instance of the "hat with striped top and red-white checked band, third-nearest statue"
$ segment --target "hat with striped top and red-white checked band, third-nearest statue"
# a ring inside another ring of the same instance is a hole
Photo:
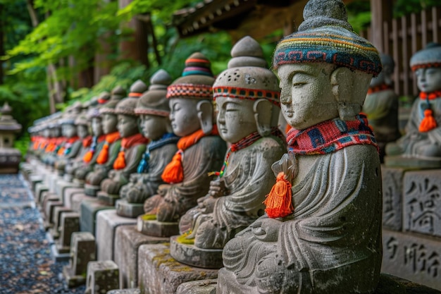
[[[199,52],[185,61],[182,76],[167,87],[167,98],[212,99],[214,78],[210,61]]]

